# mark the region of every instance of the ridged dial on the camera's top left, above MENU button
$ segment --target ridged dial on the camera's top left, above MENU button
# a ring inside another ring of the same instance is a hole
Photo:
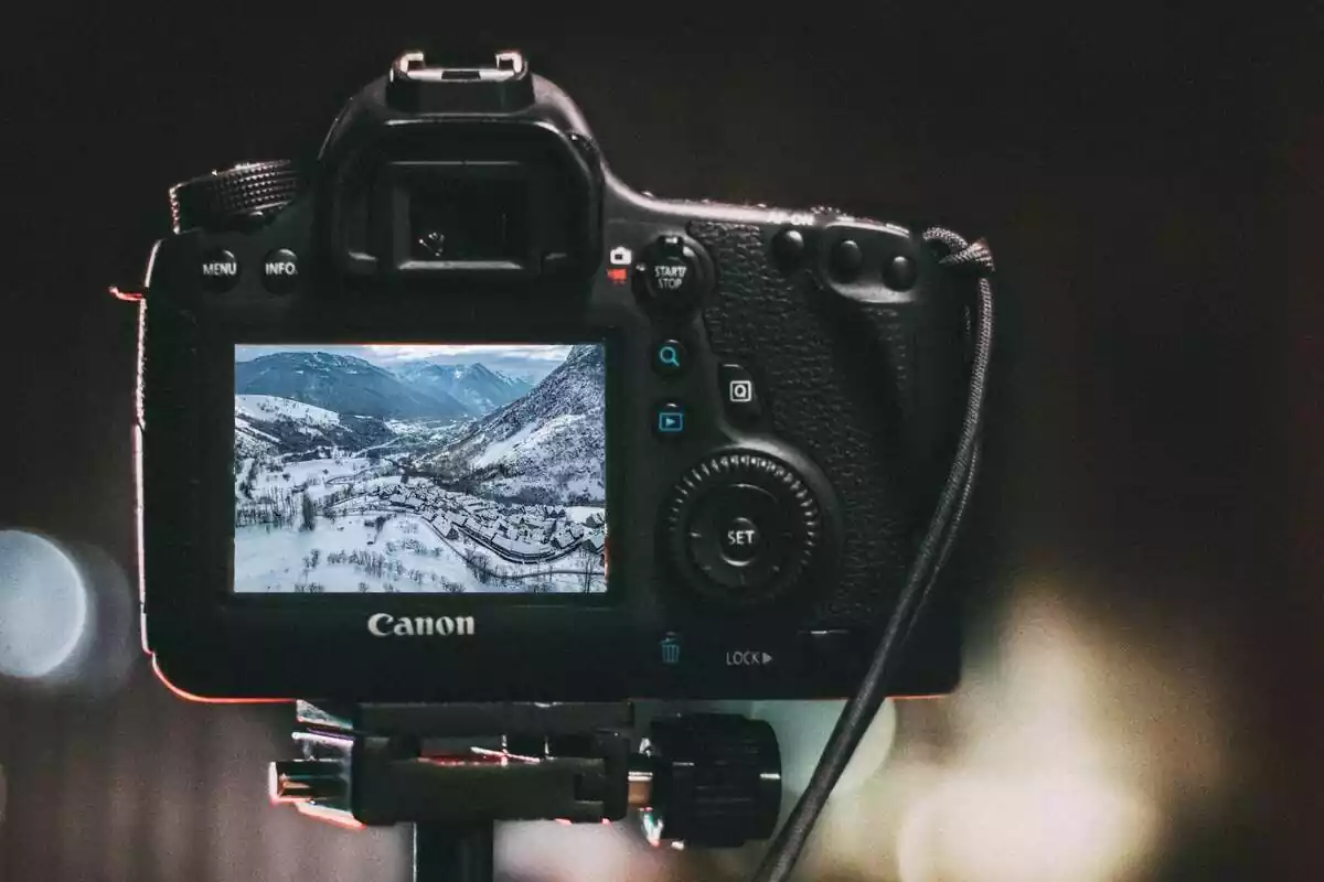
[[[281,210],[299,193],[294,163],[242,163],[208,172],[169,188],[176,233],[222,229],[234,221]]]

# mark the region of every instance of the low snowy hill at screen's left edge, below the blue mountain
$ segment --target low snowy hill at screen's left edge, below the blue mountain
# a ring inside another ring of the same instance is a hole
[[[294,454],[335,446],[361,450],[395,438],[373,417],[336,414],[275,395],[234,395],[234,455]]]

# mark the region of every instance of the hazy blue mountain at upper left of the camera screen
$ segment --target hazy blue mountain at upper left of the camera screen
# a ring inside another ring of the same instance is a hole
[[[389,370],[326,352],[281,352],[234,365],[237,395],[275,395],[335,414],[463,419],[475,413],[442,390],[424,394]]]

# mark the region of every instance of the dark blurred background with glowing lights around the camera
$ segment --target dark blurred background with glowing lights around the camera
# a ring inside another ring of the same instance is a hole
[[[804,878],[1320,878],[1319,8],[710,5],[11,19],[0,528],[62,551],[0,559],[0,591],[77,571],[105,611],[136,577],[135,316],[106,287],[142,278],[168,185],[306,153],[404,48],[516,46],[639,189],[941,222],[997,257],[1008,565],[972,586],[961,689],[888,706]],[[176,700],[117,633],[0,686],[0,879],[408,878],[402,833],[267,805],[290,709]],[[20,641],[0,628],[0,662]],[[792,787],[834,709],[749,709]],[[528,881],[757,858],[555,824],[498,846]]]

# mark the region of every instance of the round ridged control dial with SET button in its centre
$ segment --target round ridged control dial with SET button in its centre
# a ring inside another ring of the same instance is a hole
[[[666,557],[695,592],[723,606],[767,603],[793,590],[822,545],[822,513],[784,463],[735,451],[707,459],[663,510]]]

